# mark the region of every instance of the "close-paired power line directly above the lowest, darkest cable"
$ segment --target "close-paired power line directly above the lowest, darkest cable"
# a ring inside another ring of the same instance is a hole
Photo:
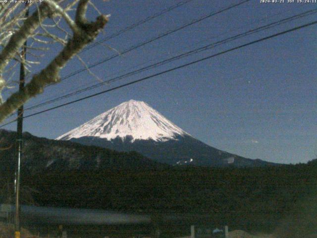
[[[118,81],[118,80],[120,80],[120,79],[126,78],[126,77],[131,76],[131,75],[134,75],[134,74],[136,74],[136,73],[143,72],[143,71],[145,71],[145,70],[148,70],[148,69],[151,69],[151,68],[155,68],[155,67],[160,66],[160,65],[163,65],[163,64],[165,64],[165,63],[168,63],[168,62],[171,62],[171,61],[174,61],[174,60],[179,60],[179,59],[181,59],[181,58],[188,57],[188,56],[190,56],[190,55],[197,54],[197,53],[199,53],[199,52],[209,50],[209,49],[211,49],[211,48],[214,48],[214,47],[223,45],[223,44],[228,43],[228,42],[231,42],[231,41],[233,41],[233,40],[236,40],[236,39],[239,39],[239,38],[242,38],[242,37],[251,35],[251,34],[255,34],[255,33],[258,33],[258,32],[263,31],[263,30],[267,30],[267,29],[269,29],[269,28],[272,28],[272,27],[275,27],[275,26],[278,26],[278,25],[287,23],[287,22],[289,22],[289,21],[292,21],[292,20],[295,20],[295,19],[299,19],[299,18],[308,16],[308,15],[314,14],[314,13],[316,13],[316,12],[317,12],[317,9],[313,9],[313,10],[309,10],[309,11],[305,11],[305,12],[296,14],[296,15],[291,16],[291,17],[287,17],[287,18],[285,18],[285,19],[281,19],[281,20],[275,21],[275,22],[273,22],[273,23],[266,24],[266,25],[264,25],[264,26],[261,26],[261,27],[258,27],[258,28],[255,28],[255,29],[246,31],[246,32],[244,32],[244,33],[241,33],[241,34],[238,34],[238,35],[235,35],[235,36],[226,38],[226,39],[224,39],[224,40],[217,41],[217,42],[215,42],[215,43],[211,43],[211,44],[209,44],[209,45],[200,47],[200,48],[198,48],[198,49],[195,49],[195,50],[192,50],[192,51],[189,51],[189,52],[180,54],[180,55],[178,55],[178,56],[171,57],[171,58],[169,58],[169,59],[159,61],[159,62],[157,62],[157,63],[148,65],[148,66],[146,66],[146,67],[143,67],[143,68],[140,68],[140,69],[137,69],[137,70],[134,70],[134,71],[132,71],[132,72],[128,72],[128,73],[125,73],[125,74],[123,74],[123,75],[116,76],[116,77],[114,77],[114,78],[112,78],[112,79],[109,79],[109,80],[106,80],[106,81],[104,81],[104,82],[101,82],[101,83],[98,83],[98,84],[95,84],[95,85],[92,85],[92,86],[89,86],[89,87],[86,87],[86,88],[83,88],[83,89],[74,91],[74,92],[72,92],[72,93],[68,93],[68,94],[65,94],[65,95],[63,95],[63,96],[54,98],[54,99],[52,99],[52,100],[49,100],[49,101],[46,101],[46,102],[43,102],[43,103],[40,103],[40,104],[31,106],[31,107],[29,107],[29,108],[26,108],[25,111],[27,111],[27,110],[32,110],[32,109],[36,109],[36,108],[39,108],[39,107],[42,107],[42,106],[45,106],[45,105],[48,105],[48,104],[51,104],[51,103],[60,101],[60,100],[62,100],[62,99],[65,99],[65,98],[68,98],[68,97],[77,95],[77,94],[79,94],[79,93],[82,93],[82,92],[85,92],[85,91],[88,91],[88,90],[95,89],[95,88],[97,88],[97,87],[100,87],[100,86],[102,86],[102,85],[105,85],[106,83]]]

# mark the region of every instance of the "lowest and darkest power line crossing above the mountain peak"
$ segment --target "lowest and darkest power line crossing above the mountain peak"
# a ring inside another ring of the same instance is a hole
[[[38,113],[34,113],[34,114],[31,114],[31,115],[25,116],[23,118],[33,117],[33,116],[36,116],[36,115],[39,115],[39,114],[42,114],[42,113],[45,113],[45,112],[48,112],[48,111],[52,111],[52,110],[57,109],[57,108],[61,108],[61,107],[64,107],[64,106],[67,106],[67,105],[70,105],[70,104],[73,104],[73,103],[76,103],[76,102],[80,102],[80,101],[86,100],[88,98],[92,98],[92,97],[95,97],[95,96],[98,96],[98,95],[101,95],[101,94],[104,94],[104,93],[107,93],[107,92],[110,92],[110,91],[113,91],[113,90],[116,90],[116,89],[119,89],[119,88],[123,88],[123,87],[129,86],[129,85],[135,84],[135,83],[139,83],[141,81],[144,81],[144,80],[147,80],[147,79],[150,79],[150,78],[165,74],[167,72],[171,72],[171,71],[174,71],[176,69],[180,69],[180,68],[183,68],[183,67],[198,63],[198,62],[202,62],[204,60],[209,60],[211,58],[214,58],[214,57],[229,53],[231,51],[235,51],[235,50],[238,50],[238,49],[241,49],[241,48],[244,48],[244,47],[247,47],[247,46],[250,46],[250,45],[253,45],[253,44],[256,44],[256,43],[259,43],[259,42],[262,42],[262,41],[265,41],[265,40],[268,40],[268,39],[271,39],[271,38],[274,38],[274,37],[277,37],[277,36],[280,36],[280,35],[283,35],[283,34],[286,34],[286,33],[289,33],[289,32],[293,32],[293,31],[296,31],[296,30],[299,30],[299,29],[302,29],[302,28],[305,28],[305,27],[309,27],[309,26],[315,25],[315,24],[317,24],[317,21],[313,21],[313,22],[310,22],[310,23],[307,23],[307,24],[304,24],[304,25],[301,25],[301,26],[298,26],[298,27],[294,27],[294,28],[291,28],[289,30],[282,31],[282,32],[279,32],[279,33],[276,33],[276,34],[261,38],[259,40],[255,40],[255,41],[252,41],[252,42],[249,42],[249,43],[246,43],[246,44],[231,48],[231,49],[226,50],[226,51],[222,51],[220,53],[217,53],[217,54],[214,54],[214,55],[211,55],[211,56],[199,59],[199,60],[194,60],[194,61],[191,61],[189,63],[182,64],[180,66],[173,67],[173,68],[167,69],[165,71],[162,71],[162,72],[159,72],[159,73],[156,73],[156,74],[152,74],[150,76],[147,76],[147,77],[144,77],[144,78],[141,78],[141,79],[129,82],[129,83],[125,83],[125,84],[122,84],[120,86],[117,86],[117,87],[114,87],[114,88],[111,88],[111,89],[107,89],[107,90],[99,92],[99,93],[95,93],[95,94],[92,94],[92,95],[89,95],[89,96],[86,96],[86,97],[83,97],[83,98],[80,98],[80,99],[77,99],[77,100],[74,100],[74,101],[71,101],[71,102],[68,102],[68,103],[64,103],[64,104],[58,105],[58,106],[53,107],[53,108],[49,108],[49,109],[43,110],[43,111],[38,112]],[[9,123],[10,122],[1,125],[0,128],[5,126],[5,125],[7,125],[7,124],[9,124]]]

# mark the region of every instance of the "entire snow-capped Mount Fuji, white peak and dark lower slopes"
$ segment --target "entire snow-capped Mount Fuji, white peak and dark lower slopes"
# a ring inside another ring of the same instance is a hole
[[[173,124],[147,103],[135,100],[121,103],[56,139],[117,151],[137,151],[169,165],[275,165],[213,148]]]

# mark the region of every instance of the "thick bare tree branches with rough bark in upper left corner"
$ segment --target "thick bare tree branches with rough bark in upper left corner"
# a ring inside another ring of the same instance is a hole
[[[52,3],[51,0],[48,0],[47,2]],[[0,122],[30,98],[42,93],[45,86],[58,82],[60,70],[72,57],[93,41],[105,27],[108,21],[106,15],[98,16],[95,22],[87,21],[86,11],[88,2],[89,0],[79,1],[74,22],[76,27],[71,28],[73,30],[73,36],[68,40],[62,51],[47,65],[46,68],[33,76],[31,81],[26,84],[23,91],[13,93],[2,105],[0,105]],[[40,26],[43,17],[49,16],[49,6],[51,6],[50,3],[42,4],[39,7],[39,10],[26,19],[21,29],[10,38],[9,43],[0,54],[0,72],[3,71],[8,61],[14,57],[23,42],[32,35],[37,27]],[[63,17],[64,16],[65,15],[63,15]],[[67,21],[67,23],[69,22]],[[10,47],[8,47],[8,45],[10,45]],[[0,78],[0,90],[1,82]],[[3,85],[5,85],[5,81]]]

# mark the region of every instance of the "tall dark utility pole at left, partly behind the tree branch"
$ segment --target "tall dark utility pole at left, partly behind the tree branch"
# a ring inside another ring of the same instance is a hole
[[[25,7],[28,7],[28,4],[25,4]],[[29,16],[29,9],[25,12],[25,17]],[[27,41],[24,42],[24,47],[21,51],[21,63],[20,63],[20,80],[19,80],[19,91],[24,90],[25,85],[25,68],[24,60],[26,59],[26,46]],[[17,158],[15,165],[15,232],[14,238],[21,238],[20,232],[20,170],[21,170],[21,156],[22,156],[22,131],[23,131],[23,105],[18,108],[18,118],[17,118],[17,135],[16,135],[16,144],[17,144]]]

